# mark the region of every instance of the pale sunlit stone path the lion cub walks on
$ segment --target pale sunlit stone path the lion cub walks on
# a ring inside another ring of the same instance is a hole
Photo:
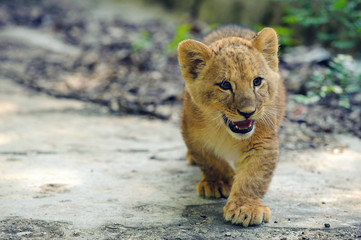
[[[242,229],[225,200],[196,196],[176,121],[117,117],[0,79],[1,239],[357,239],[361,141],[284,151],[265,203]],[[325,227],[328,226],[330,227]]]

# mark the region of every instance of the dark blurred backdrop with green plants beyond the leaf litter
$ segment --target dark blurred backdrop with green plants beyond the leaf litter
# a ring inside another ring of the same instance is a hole
[[[360,51],[360,1],[357,0],[151,0],[191,22],[215,27],[227,23],[275,28],[282,47],[319,44],[335,53]]]

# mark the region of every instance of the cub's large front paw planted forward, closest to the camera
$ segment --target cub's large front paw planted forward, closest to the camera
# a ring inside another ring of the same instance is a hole
[[[271,217],[271,210],[260,202],[255,200],[254,202],[242,203],[241,201],[228,199],[226,206],[223,208],[224,218],[243,227],[268,222]]]

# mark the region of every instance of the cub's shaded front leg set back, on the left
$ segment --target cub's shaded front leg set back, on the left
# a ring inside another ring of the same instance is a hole
[[[228,197],[234,171],[226,161],[205,150],[188,150],[187,157],[189,163],[195,163],[202,170],[202,180],[197,185],[198,195],[205,198]]]

